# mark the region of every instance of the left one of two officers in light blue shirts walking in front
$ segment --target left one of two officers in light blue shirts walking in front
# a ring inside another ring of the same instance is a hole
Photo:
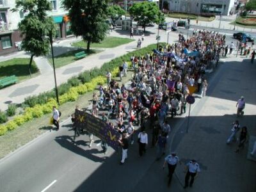
[[[168,186],[170,186],[171,182],[172,182],[172,175],[175,171],[175,168],[177,166],[179,161],[179,157],[176,156],[176,153],[175,152],[172,152],[169,156],[166,156],[165,159],[164,159],[164,164],[163,164],[163,169],[164,169],[164,166],[165,164],[167,163],[168,164],[168,170],[169,170],[169,173],[168,173]],[[181,164],[181,163],[180,163]]]

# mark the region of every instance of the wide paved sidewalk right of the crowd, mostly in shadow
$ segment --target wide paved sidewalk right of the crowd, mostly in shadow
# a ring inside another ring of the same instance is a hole
[[[189,191],[255,191],[255,161],[246,158],[248,144],[238,154],[237,143],[226,144],[232,122],[246,125],[251,136],[256,134],[255,97],[256,67],[248,58],[226,58],[212,74],[206,97],[196,99],[191,106],[189,131],[187,120],[175,127],[171,151],[176,151],[182,162],[176,175],[184,185],[184,164],[196,159],[201,173]],[[244,116],[236,117],[236,102],[241,95],[246,98]],[[186,117],[188,118],[188,116]],[[239,137],[239,133],[237,134]]]

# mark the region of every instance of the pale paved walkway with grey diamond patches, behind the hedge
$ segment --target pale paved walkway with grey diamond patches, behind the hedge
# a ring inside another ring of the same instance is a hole
[[[129,38],[129,32],[128,31],[124,32],[119,29],[116,29],[116,31],[113,31],[111,33],[111,36],[122,36],[124,38],[125,37]],[[178,36],[177,34],[173,35],[172,37],[173,40],[177,40],[177,36]],[[56,69],[57,84],[60,85],[61,83],[66,82],[68,78],[72,76],[77,76],[79,73],[83,72],[84,70],[90,70],[91,68],[94,68],[94,67],[101,67],[104,63],[111,61],[118,56],[122,56],[127,52],[136,50],[136,44],[137,44],[136,40],[138,40],[138,38],[140,38],[140,36],[134,35],[134,39],[135,39],[134,42],[120,45],[113,49],[106,49],[106,51],[102,51],[98,54],[93,54],[84,59],[75,61],[74,63],[71,63],[69,65],[65,65],[64,67],[57,68]],[[60,42],[58,46],[67,48],[68,46],[70,46],[70,42],[73,42],[73,41],[74,41],[74,38],[72,40],[65,40],[63,42]],[[145,40],[142,44],[142,47],[146,47],[147,45],[154,44],[154,43],[156,43],[155,34],[150,32],[149,36],[147,35],[145,36]],[[54,49],[56,49],[56,47],[58,46],[56,46],[56,43],[55,43]],[[18,52],[17,54],[22,55],[22,52]],[[12,57],[17,57],[17,54],[8,56],[8,58],[10,59]],[[36,61],[37,60],[38,59],[36,58]],[[43,58],[41,60],[42,62],[41,66],[44,66],[44,61],[45,59]],[[24,102],[24,99],[28,96],[38,95],[39,93],[46,92],[54,88],[54,76],[48,64],[47,64],[47,67],[44,67],[44,68],[42,67],[40,68],[40,70],[42,71],[42,74],[40,76],[29,79],[22,83],[14,84],[13,86],[8,86],[6,88],[1,89],[0,90],[0,95],[1,95],[0,109],[5,110],[7,109],[7,106],[10,103],[20,104]]]

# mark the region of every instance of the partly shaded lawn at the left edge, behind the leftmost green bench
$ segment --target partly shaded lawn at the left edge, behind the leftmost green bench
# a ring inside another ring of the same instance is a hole
[[[0,79],[8,76],[17,76],[19,81],[29,79],[29,58],[15,58],[8,61],[0,62]],[[38,68],[35,61],[32,63],[31,74],[36,76],[38,74]]]

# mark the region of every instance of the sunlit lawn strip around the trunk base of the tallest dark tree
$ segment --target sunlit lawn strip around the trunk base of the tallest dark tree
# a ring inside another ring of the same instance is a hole
[[[91,44],[90,47],[100,47],[100,48],[113,48],[119,45],[128,44],[129,42],[134,41],[134,39],[130,38],[120,38],[115,36],[106,37],[100,44]],[[84,41],[76,42],[72,44],[74,47],[84,47],[86,48]]]

